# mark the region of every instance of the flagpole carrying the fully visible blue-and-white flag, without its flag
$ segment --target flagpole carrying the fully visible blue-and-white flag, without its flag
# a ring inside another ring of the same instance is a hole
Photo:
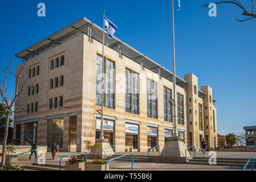
[[[105,81],[105,74],[104,74],[104,42],[105,42],[105,10],[103,10],[103,46],[102,46],[102,93],[101,93],[101,127],[100,127],[100,139],[104,139],[103,133],[103,104],[104,104],[104,81]]]

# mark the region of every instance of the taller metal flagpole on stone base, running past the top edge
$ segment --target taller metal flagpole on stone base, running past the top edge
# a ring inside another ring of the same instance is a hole
[[[175,74],[175,40],[174,40],[174,9],[172,0],[172,46],[173,46],[173,130],[174,137],[178,137],[176,123],[176,74]]]

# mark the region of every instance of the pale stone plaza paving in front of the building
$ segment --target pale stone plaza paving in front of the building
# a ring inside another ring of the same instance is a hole
[[[69,152],[57,152],[55,155],[55,160],[51,160],[51,153],[46,153],[46,163],[47,164],[58,164],[60,158],[67,155],[72,155],[73,153]],[[117,153],[117,155],[127,154],[127,152]],[[147,155],[147,152],[133,152],[134,155]],[[30,154],[19,155],[18,164],[27,164],[36,163],[34,155],[29,160]],[[158,152],[150,152],[149,155],[159,155]],[[190,152],[190,155],[193,156],[193,152]],[[202,156],[202,152],[196,152],[196,156]],[[206,152],[206,157],[208,152]],[[217,152],[217,158],[242,158],[248,159],[250,156],[256,158],[256,152]],[[68,160],[62,159],[62,165]],[[88,160],[91,161],[91,160]],[[129,171],[131,170],[131,162],[118,162],[111,161],[110,170],[112,171]],[[15,165],[15,164],[14,164]],[[17,165],[17,164],[16,164]],[[238,170],[241,171],[241,167],[228,167],[228,166],[210,166],[210,165],[196,165],[196,164],[162,164],[162,163],[133,163],[133,168],[135,171],[229,171],[229,170]],[[248,169],[249,170],[249,169]]]

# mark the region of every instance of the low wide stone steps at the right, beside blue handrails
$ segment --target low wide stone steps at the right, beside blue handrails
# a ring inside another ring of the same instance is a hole
[[[230,167],[243,167],[247,163],[248,159],[237,159],[237,158],[217,158],[217,166],[230,166]],[[209,158],[196,157],[190,159],[187,164],[197,164],[197,165],[210,165]],[[256,163],[254,163],[254,168]],[[251,168],[251,162],[247,165],[247,168]]]

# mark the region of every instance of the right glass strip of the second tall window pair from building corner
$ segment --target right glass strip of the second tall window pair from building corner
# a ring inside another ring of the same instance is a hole
[[[139,74],[133,72],[133,114],[139,114]]]

